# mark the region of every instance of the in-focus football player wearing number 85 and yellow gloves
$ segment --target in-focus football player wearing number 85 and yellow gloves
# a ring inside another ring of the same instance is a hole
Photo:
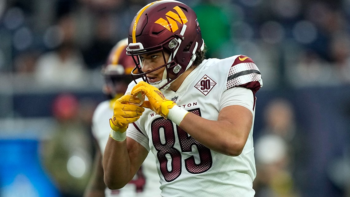
[[[204,59],[195,12],[174,0],[143,7],[128,42],[132,75],[140,78],[114,105],[106,185],[123,188],[151,151],[163,197],[253,197],[255,93],[262,87],[253,60]]]

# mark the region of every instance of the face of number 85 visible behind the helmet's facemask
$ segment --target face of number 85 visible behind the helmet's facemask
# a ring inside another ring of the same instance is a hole
[[[148,72],[163,66],[169,60],[169,54],[165,53],[165,61],[162,52],[140,55],[140,59],[142,61],[142,72]],[[165,67],[162,67],[152,73],[146,74],[148,82],[154,83],[162,80],[164,69]]]

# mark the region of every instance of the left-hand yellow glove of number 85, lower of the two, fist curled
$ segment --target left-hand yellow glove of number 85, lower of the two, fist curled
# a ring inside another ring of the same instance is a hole
[[[140,99],[132,95],[124,95],[117,99],[114,103],[113,117],[110,119],[111,128],[124,133],[128,124],[137,121],[145,111],[143,107],[135,105],[140,102]]]

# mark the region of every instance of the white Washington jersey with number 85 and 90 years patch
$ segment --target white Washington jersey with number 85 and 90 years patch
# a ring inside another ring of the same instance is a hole
[[[134,83],[130,83],[131,91]],[[255,93],[262,87],[259,69],[246,56],[204,60],[174,92],[162,90],[169,100],[208,120],[217,120],[226,106],[241,105],[253,114]],[[175,123],[146,109],[130,124],[127,136],[156,155],[163,197],[252,197],[255,191],[253,125],[243,152],[236,157],[210,150]]]

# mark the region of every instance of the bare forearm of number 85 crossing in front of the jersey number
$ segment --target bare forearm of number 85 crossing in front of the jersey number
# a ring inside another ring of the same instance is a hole
[[[184,117],[180,127],[209,149],[229,156],[241,154],[251,129],[228,121],[207,120],[192,113]]]

